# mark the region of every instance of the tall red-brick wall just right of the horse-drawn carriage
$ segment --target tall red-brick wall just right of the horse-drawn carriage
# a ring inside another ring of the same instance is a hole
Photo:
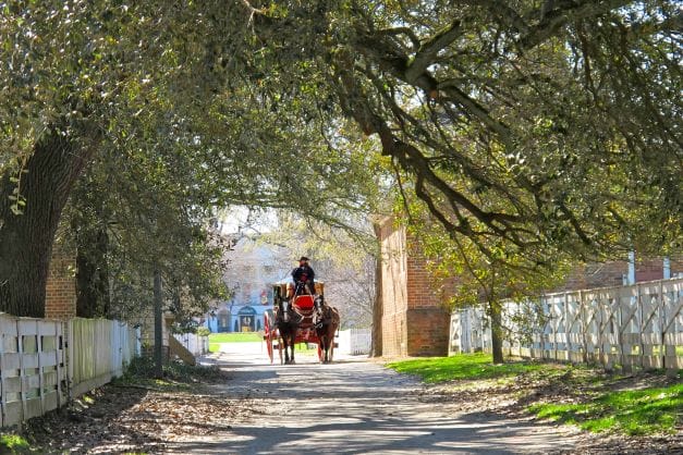
[[[393,219],[380,225],[382,355],[444,356],[450,317],[432,292],[426,261]]]

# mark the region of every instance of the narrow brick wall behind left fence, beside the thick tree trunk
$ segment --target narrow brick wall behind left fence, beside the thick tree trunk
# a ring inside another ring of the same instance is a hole
[[[54,251],[46,284],[45,317],[68,320],[76,316],[76,258]]]

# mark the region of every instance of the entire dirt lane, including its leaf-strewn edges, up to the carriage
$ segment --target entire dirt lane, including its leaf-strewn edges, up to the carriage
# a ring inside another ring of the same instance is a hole
[[[39,420],[33,438],[53,453],[683,453],[680,436],[596,436],[534,421],[504,395],[453,394],[363,358],[271,366],[259,343],[224,351],[208,359],[229,372],[224,381],[107,386],[89,405]]]

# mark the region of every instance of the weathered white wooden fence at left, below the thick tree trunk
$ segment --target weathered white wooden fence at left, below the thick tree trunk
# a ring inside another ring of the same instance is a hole
[[[138,335],[119,321],[0,313],[0,427],[40,416],[122,374],[139,354]]]

